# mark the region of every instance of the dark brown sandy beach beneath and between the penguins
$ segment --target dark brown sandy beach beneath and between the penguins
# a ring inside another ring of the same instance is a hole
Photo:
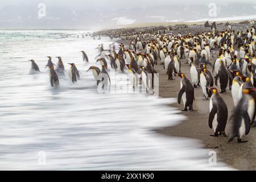
[[[245,30],[246,25],[233,25],[234,30]],[[219,26],[218,29],[222,30],[225,26]],[[202,32],[210,31],[210,28],[205,28],[203,25],[193,25],[182,30],[172,31],[173,34],[181,32],[182,34],[187,34],[188,32]],[[146,40],[145,40],[146,41]],[[129,41],[119,40],[119,43],[123,43],[127,46]],[[237,49],[237,47],[235,47]],[[215,51],[216,52],[216,51]],[[216,59],[216,53],[211,57],[210,62],[214,62]],[[184,59],[181,60],[181,72],[185,73],[187,78],[190,78],[190,67],[185,63]],[[180,89],[180,78],[175,77],[175,80],[168,80],[166,71],[163,69],[163,65],[160,65],[160,60],[158,60],[158,65],[155,65],[156,71],[159,73],[159,95],[160,97],[166,98],[177,98]],[[212,72],[212,68],[208,66],[208,69]],[[215,85],[214,85],[215,86]],[[228,90],[226,93],[221,94],[221,97],[226,102],[228,106],[229,117],[234,108],[233,99],[231,91]],[[228,138],[225,137],[210,137],[213,134],[208,126],[209,117],[209,100],[206,101],[203,97],[201,87],[195,89],[195,111],[182,111],[180,114],[187,116],[187,119],[183,121],[180,125],[173,127],[166,127],[157,132],[172,136],[172,137],[185,137],[185,138],[195,138],[199,139],[205,148],[213,149],[217,152],[217,162],[225,162],[226,164],[232,166],[233,168],[240,170],[256,170],[256,129],[252,127],[249,135],[245,137],[249,142],[247,143],[237,143],[237,140],[228,143]],[[172,105],[179,110],[183,109],[183,104]],[[228,118],[229,121],[229,118]],[[227,125],[228,126],[228,125]]]

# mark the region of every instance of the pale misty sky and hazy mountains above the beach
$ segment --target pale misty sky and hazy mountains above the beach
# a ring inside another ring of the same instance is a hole
[[[209,15],[213,6],[216,6],[216,14]],[[208,19],[256,19],[256,1],[1,0],[0,3],[1,29],[98,30],[133,23],[193,22]]]

